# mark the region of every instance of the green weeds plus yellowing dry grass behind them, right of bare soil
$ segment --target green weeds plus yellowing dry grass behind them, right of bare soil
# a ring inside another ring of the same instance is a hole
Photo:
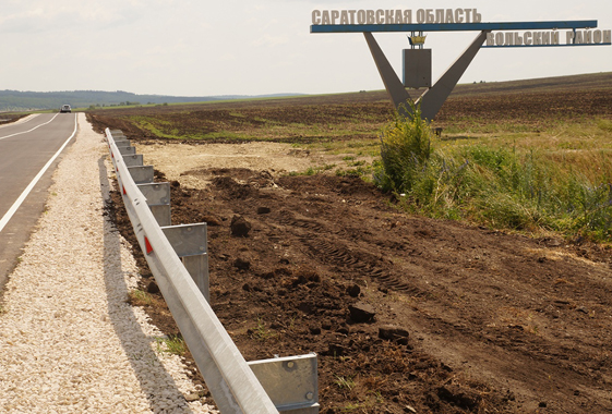
[[[465,131],[440,139],[431,133],[416,136],[408,131],[398,141],[397,125],[387,125],[382,162],[374,170],[374,182],[394,192],[407,211],[495,229],[612,240],[609,120],[478,137]],[[429,141],[434,148],[429,157],[411,149],[415,139]]]

